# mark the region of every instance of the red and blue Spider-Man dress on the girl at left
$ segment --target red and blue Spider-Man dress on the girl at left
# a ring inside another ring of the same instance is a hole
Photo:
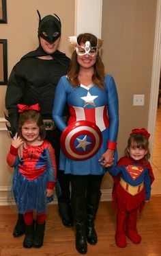
[[[53,196],[46,197],[50,183],[53,189],[56,182],[56,161],[53,147],[48,141],[40,146],[27,145],[23,149],[23,158],[18,159],[18,149],[11,146],[7,161],[14,167],[10,199],[14,198],[18,213],[27,211],[43,213]]]

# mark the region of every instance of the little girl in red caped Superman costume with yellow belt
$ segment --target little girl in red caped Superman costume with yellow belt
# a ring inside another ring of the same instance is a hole
[[[154,180],[148,161],[149,136],[144,128],[132,130],[125,156],[109,170],[114,179],[114,205],[117,202],[115,242],[119,247],[126,247],[126,235],[134,244],[141,242],[141,235],[136,230],[137,211],[149,201]]]

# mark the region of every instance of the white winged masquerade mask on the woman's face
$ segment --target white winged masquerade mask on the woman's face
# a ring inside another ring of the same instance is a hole
[[[84,46],[78,45],[76,36],[69,36],[69,41],[76,47],[76,54],[78,56],[84,56],[85,54],[88,54],[91,57],[95,57],[98,54],[98,51],[103,42],[102,40],[98,39],[97,46],[91,47],[91,43],[89,41],[86,41]]]

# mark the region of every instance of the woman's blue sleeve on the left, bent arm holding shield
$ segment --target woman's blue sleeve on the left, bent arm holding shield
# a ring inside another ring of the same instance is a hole
[[[61,132],[63,132],[67,126],[63,120],[63,110],[65,108],[66,99],[67,94],[65,91],[65,81],[64,77],[61,77],[55,90],[55,99],[52,111],[52,117],[55,121],[55,125],[59,130],[61,130]]]

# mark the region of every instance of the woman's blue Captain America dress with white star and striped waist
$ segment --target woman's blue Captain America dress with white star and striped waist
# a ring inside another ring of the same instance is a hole
[[[63,132],[67,126],[63,121],[63,109],[65,104],[68,104],[70,108],[68,124],[71,124],[72,121],[92,121],[102,132],[102,146],[90,159],[72,160],[61,151],[59,170],[64,170],[65,174],[102,175],[106,172],[106,168],[102,167],[98,160],[108,149],[108,141],[116,142],[117,140],[119,107],[113,77],[106,75],[104,84],[103,90],[95,84],[89,86],[81,84],[75,88],[66,76],[61,77],[57,84],[53,106],[53,119],[57,128]],[[115,150],[114,158],[117,163],[117,150]]]

